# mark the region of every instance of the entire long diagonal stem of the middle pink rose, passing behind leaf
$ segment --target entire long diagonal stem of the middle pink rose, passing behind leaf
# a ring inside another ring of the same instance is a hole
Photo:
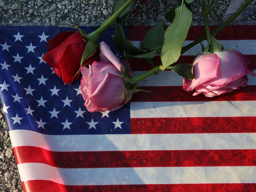
[[[237,18],[237,16],[243,12],[243,10],[245,10],[245,8],[247,6],[250,5],[250,3],[252,2],[253,0],[245,0],[243,3],[241,3],[241,7],[230,17],[228,18],[228,20],[226,20],[223,24],[221,24],[221,26],[219,26],[216,30],[214,30],[211,34],[217,34],[219,33],[220,31],[222,31],[228,24],[230,24],[235,18]],[[201,37],[199,40],[197,41],[193,41],[191,42],[190,44],[182,47],[182,50],[181,50],[181,54],[184,54],[187,50],[191,49],[193,46],[197,45],[198,43],[204,41],[206,39],[206,36],[204,37]],[[167,67],[168,69],[168,67]],[[147,78],[148,76],[158,72],[159,70],[161,70],[161,65],[160,66],[156,66],[154,68],[152,68],[151,70],[141,74],[140,76],[137,76],[137,77],[134,77],[133,79],[137,82]]]

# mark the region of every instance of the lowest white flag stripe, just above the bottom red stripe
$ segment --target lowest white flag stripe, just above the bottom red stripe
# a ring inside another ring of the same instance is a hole
[[[256,166],[56,168],[18,164],[21,181],[50,180],[63,185],[256,183]]]

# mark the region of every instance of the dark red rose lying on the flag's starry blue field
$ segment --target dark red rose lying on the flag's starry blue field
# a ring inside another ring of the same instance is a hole
[[[43,55],[43,60],[52,66],[55,74],[62,78],[64,83],[72,83],[74,79],[79,78],[79,74],[76,75],[76,72],[80,68],[87,41],[77,31],[59,33],[52,40],[47,41],[50,46],[46,46],[48,52]],[[98,59],[95,57],[97,53],[87,59],[83,65],[86,66],[97,61]]]

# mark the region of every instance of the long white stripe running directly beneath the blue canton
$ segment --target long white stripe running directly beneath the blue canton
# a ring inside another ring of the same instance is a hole
[[[256,149],[256,133],[44,135],[13,130],[9,135],[13,147],[37,146],[51,151]]]

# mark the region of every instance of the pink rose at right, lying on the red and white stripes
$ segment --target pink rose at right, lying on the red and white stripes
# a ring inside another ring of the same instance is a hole
[[[213,97],[246,86],[247,73],[255,76],[247,65],[250,61],[234,49],[199,54],[192,63],[195,79],[183,80],[183,89],[196,90],[193,96],[200,93]]]

